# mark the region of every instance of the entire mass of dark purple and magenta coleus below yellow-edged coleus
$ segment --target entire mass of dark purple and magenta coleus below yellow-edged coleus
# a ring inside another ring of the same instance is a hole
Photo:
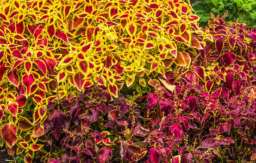
[[[56,131],[57,139],[64,137],[64,156],[49,160],[255,161],[255,30],[245,24],[228,26],[214,15],[209,24],[204,30],[213,35],[213,42],[198,51],[193,65],[166,72],[167,80],[163,75],[150,80],[155,92],[136,103],[123,97],[111,101],[102,90],[51,103],[50,117],[61,115],[67,122],[54,126],[58,123],[49,117],[45,124],[53,135],[48,142],[55,141],[51,139]],[[224,31],[232,33],[223,35]],[[242,48],[233,47],[230,38]],[[58,106],[66,107],[61,109],[65,112],[60,114]]]

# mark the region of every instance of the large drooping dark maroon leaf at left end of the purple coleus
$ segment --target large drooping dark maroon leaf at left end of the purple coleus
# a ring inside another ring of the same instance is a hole
[[[52,124],[52,133],[56,137],[56,139],[59,139],[61,130],[63,129],[63,125],[65,122],[66,116],[63,111],[61,110],[55,110],[49,116],[49,121]]]

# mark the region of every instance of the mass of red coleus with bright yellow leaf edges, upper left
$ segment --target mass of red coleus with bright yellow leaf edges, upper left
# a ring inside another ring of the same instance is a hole
[[[55,98],[97,81],[117,97],[124,83],[145,87],[173,62],[188,66],[185,51],[202,48],[193,36],[203,34],[199,17],[184,0],[11,0],[0,10],[1,145],[26,152],[26,162],[45,141],[46,105]]]

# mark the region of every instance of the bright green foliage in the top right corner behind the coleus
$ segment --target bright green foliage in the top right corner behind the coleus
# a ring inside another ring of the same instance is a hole
[[[256,1],[254,0],[205,0],[196,2],[192,8],[201,17],[200,26],[207,26],[211,17],[210,12],[223,16],[228,10],[226,21],[246,23],[249,27],[256,27]]]

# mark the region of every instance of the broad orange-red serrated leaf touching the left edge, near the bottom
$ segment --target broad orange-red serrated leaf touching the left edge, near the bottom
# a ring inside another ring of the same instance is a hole
[[[11,148],[17,142],[17,128],[13,124],[4,124],[1,127],[1,136],[3,140],[7,143],[8,147]]]

